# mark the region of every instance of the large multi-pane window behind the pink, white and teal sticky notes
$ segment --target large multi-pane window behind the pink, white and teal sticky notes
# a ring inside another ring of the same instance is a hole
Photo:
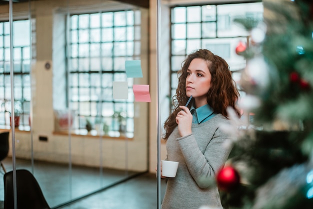
[[[125,60],[140,59],[140,11],[110,11],[70,16],[68,86],[78,129],[106,126],[110,136],[133,137],[133,79]],[[113,81],[128,82],[128,99],[114,99]]]

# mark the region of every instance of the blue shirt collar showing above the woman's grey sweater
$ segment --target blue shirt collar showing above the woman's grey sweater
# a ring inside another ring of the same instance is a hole
[[[198,108],[194,108],[192,105],[190,107],[190,112],[192,114],[192,123],[197,124],[205,122],[216,115],[216,113],[213,112],[213,109],[208,104]]]

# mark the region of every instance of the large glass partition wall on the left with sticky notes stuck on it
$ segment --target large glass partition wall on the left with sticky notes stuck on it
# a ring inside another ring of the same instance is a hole
[[[136,102],[132,89],[148,80],[147,8],[106,0],[13,2],[10,34],[9,5],[0,1],[6,171],[31,171],[51,208],[147,171],[147,103]],[[140,60],[143,77],[127,77],[126,60]],[[127,98],[114,97],[115,81],[127,83]]]

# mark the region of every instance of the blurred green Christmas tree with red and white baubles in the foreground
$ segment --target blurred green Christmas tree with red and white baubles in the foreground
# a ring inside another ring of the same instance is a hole
[[[216,183],[225,208],[313,208],[313,2],[263,6],[262,20],[236,19],[249,31],[236,53],[247,60],[239,105],[251,120]]]

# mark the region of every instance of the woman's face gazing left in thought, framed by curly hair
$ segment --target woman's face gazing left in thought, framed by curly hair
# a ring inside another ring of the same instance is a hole
[[[211,73],[208,70],[207,62],[201,58],[194,58],[187,69],[186,95],[192,95],[195,107],[206,104],[206,93],[210,88]]]

